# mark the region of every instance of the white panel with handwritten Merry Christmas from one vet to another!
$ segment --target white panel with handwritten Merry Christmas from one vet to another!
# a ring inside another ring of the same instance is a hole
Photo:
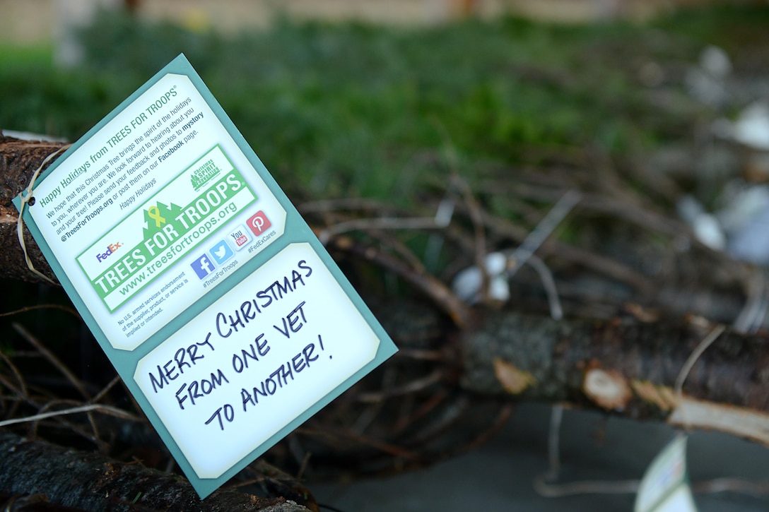
[[[201,477],[338,387],[378,337],[308,244],[291,244],[155,350],[134,380]],[[199,450],[201,440],[217,450]]]

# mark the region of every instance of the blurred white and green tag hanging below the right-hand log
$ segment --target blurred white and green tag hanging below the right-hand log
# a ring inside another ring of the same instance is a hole
[[[638,487],[635,512],[697,512],[688,484],[685,435],[677,435],[651,464]]]

